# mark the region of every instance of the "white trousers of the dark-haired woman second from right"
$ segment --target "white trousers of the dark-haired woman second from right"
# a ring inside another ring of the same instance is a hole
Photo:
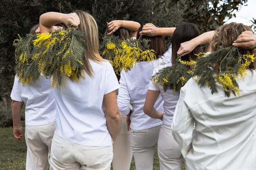
[[[157,153],[159,157],[160,170],[180,170],[182,155],[178,143],[172,135],[172,128],[162,124],[159,132]]]

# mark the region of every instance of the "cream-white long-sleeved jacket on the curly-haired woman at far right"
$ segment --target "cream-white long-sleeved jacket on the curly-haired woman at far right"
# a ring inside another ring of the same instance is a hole
[[[211,94],[193,79],[181,88],[173,136],[189,170],[256,169],[256,71],[247,74],[237,97],[219,85]]]

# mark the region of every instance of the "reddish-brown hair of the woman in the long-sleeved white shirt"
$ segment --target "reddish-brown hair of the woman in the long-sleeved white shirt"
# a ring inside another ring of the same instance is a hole
[[[137,32],[137,39],[140,37],[139,32],[142,31],[143,25],[141,25]],[[164,42],[164,36],[163,35],[157,35],[157,36],[146,36],[142,35],[141,39],[147,39],[150,40],[149,42],[149,49],[153,49],[156,52],[156,56],[159,57],[159,55],[163,55],[165,53],[165,42]]]

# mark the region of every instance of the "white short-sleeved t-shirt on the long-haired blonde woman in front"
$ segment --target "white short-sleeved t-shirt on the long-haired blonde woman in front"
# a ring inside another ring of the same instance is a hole
[[[56,99],[56,132],[63,139],[86,146],[110,146],[103,96],[119,88],[110,62],[90,61],[94,77],[85,73],[80,83],[67,79],[62,91],[53,90]]]

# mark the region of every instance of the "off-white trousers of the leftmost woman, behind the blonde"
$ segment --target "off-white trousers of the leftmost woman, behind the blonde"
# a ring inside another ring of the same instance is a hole
[[[27,143],[26,170],[47,170],[50,164],[52,137],[55,122],[40,126],[25,128],[25,140]]]

